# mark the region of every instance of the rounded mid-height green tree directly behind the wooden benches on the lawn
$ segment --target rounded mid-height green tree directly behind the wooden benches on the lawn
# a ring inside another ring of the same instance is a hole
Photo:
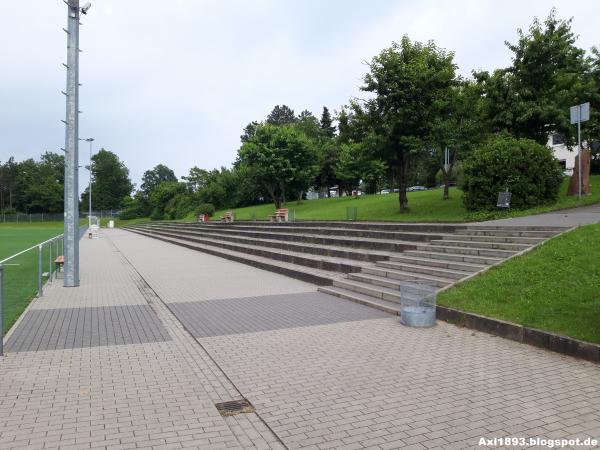
[[[307,189],[317,169],[314,147],[303,132],[269,123],[242,145],[236,164],[265,187],[275,208],[281,208],[286,193]]]

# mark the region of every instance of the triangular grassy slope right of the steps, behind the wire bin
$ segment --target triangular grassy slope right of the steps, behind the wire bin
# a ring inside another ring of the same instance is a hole
[[[600,224],[440,294],[441,305],[600,343]]]

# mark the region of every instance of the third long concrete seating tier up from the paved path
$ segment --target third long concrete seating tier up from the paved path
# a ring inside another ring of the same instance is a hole
[[[146,228],[148,231],[163,231],[167,233],[177,234],[179,236],[191,236],[191,237],[207,237],[209,239],[218,239],[221,241],[234,242],[237,244],[244,245],[255,245],[269,248],[277,248],[281,250],[288,250],[299,253],[310,253],[314,255],[336,257],[344,259],[353,259],[358,261],[376,262],[381,260],[387,260],[390,257],[389,252],[366,250],[366,249],[354,249],[351,247],[340,247],[325,244],[313,244],[313,243],[296,243],[287,242],[284,240],[277,239],[259,239],[246,236],[230,235],[223,230],[221,233],[203,233],[201,231],[179,229],[175,227],[161,227],[155,226],[152,228]]]

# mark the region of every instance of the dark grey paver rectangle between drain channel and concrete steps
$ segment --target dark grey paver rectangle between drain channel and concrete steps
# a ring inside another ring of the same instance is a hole
[[[391,317],[321,292],[169,303],[197,338]]]

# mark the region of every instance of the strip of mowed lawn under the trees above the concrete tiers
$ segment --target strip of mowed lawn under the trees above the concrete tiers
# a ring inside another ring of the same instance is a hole
[[[357,220],[402,221],[402,222],[468,222],[495,219],[499,217],[518,217],[535,213],[554,211],[557,209],[600,203],[600,175],[591,177],[592,195],[581,200],[568,197],[569,180],[565,179],[560,189],[558,201],[553,205],[544,205],[523,211],[492,211],[490,213],[472,214],[465,210],[462,203],[462,192],[458,188],[450,189],[450,199],[442,200],[442,189],[431,189],[408,193],[409,210],[399,212],[398,194],[364,195],[358,198],[340,197],[320,200],[291,201],[285,207],[295,213],[296,220],[346,220],[347,209],[357,208]],[[218,219],[225,211],[217,211],[214,219]],[[266,220],[273,214],[272,203],[233,208],[236,220]],[[192,216],[187,218],[193,219]]]

